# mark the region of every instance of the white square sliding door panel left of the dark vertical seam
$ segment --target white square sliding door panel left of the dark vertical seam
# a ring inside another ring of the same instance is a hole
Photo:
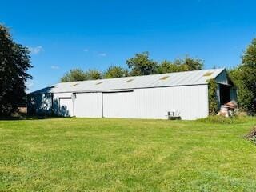
[[[74,115],[78,118],[102,118],[102,93],[76,94]]]

